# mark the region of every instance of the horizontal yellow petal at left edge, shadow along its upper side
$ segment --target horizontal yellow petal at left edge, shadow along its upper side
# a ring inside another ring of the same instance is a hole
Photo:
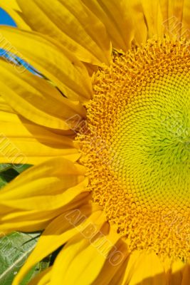
[[[0,107],[6,110],[0,111],[0,163],[38,164],[58,156],[73,161],[80,157],[70,138],[11,113],[2,98]]]

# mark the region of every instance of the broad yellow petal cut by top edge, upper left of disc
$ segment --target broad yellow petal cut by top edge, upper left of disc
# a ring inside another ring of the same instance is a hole
[[[105,26],[80,0],[18,0],[34,31],[56,38],[81,61],[100,65],[110,61]]]

